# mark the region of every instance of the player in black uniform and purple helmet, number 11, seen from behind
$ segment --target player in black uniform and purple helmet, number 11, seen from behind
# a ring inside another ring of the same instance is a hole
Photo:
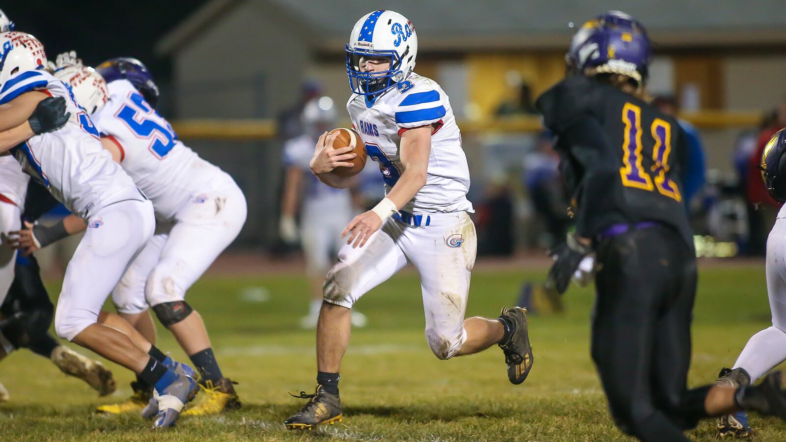
[[[757,411],[786,419],[780,373],[759,385],[688,389],[696,257],[680,169],[677,121],[644,99],[650,43],[612,11],[571,42],[567,78],[538,98],[571,194],[576,231],[553,255],[560,293],[595,253],[592,357],[615,423],[641,440],[689,440],[701,418]]]

